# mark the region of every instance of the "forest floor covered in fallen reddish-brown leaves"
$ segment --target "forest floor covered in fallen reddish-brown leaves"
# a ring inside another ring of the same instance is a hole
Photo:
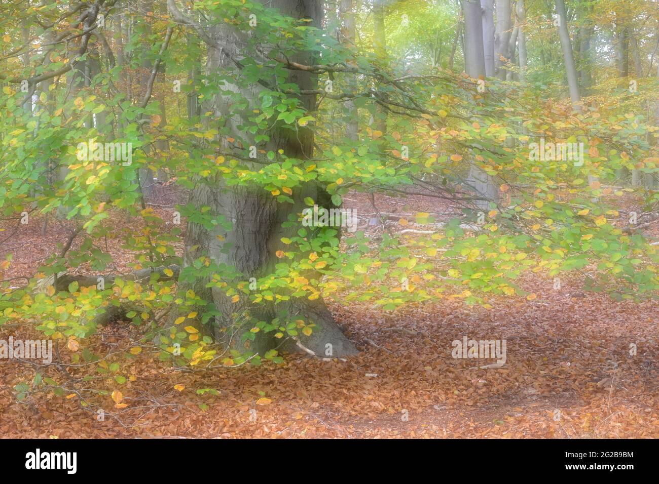
[[[346,200],[360,210],[370,205],[357,194]],[[378,209],[459,214],[425,197],[404,203],[380,197]],[[169,218],[173,209],[156,211]],[[130,229],[139,222],[115,223]],[[20,227],[5,277],[36,273],[71,227],[51,222],[45,237],[40,223]],[[118,246],[108,248],[117,260],[130,260]],[[538,274],[520,284],[538,297],[495,299],[490,309],[445,299],[394,312],[331,303],[360,349],[347,362],[290,355],[280,365],[175,371],[154,354],[126,358],[119,350],[134,346],[140,330],[109,325],[85,344],[97,354],[118,352],[108,362],[121,362],[121,373],[131,378],[118,385],[98,376],[90,387],[121,389],[127,408],[117,410],[109,396],[99,397],[107,414],[98,421],[75,394],[32,394],[17,402],[14,385],[31,382],[35,369],[0,360],[0,437],[659,437],[656,303],[585,294],[579,280],[563,277],[560,290]],[[0,338],[10,335],[39,338],[28,325],[0,327]],[[480,369],[494,360],[452,358],[451,342],[463,336],[507,340],[505,365]],[[52,366],[45,373],[68,378]]]

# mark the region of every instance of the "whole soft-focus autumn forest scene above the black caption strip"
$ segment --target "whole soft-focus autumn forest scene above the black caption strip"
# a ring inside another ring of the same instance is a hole
[[[2,435],[658,437],[658,27],[0,0]]]

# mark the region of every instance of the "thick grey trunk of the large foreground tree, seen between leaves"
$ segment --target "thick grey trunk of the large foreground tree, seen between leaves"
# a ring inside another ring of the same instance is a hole
[[[279,9],[281,13],[295,18],[310,18],[312,22],[307,25],[320,26],[322,9],[317,0],[261,0],[262,3]],[[174,7],[175,8],[175,7]],[[170,11],[173,10],[173,2],[169,3]],[[244,55],[243,45],[246,44],[248,33],[233,30],[227,24],[212,26],[209,36],[221,45],[225,53],[209,45],[208,61],[206,65],[207,74],[214,74],[220,69],[234,70],[236,76],[241,74],[235,67],[233,59],[242,59]],[[229,58],[228,56],[231,56]],[[300,53],[290,56],[291,61],[308,63],[312,61],[310,55]],[[274,81],[274,79],[273,79]],[[317,88],[317,78],[308,72],[293,70],[289,74],[287,82],[294,82],[301,90],[314,90]],[[273,82],[274,84],[274,82]],[[203,111],[212,111],[217,117],[225,122],[236,138],[242,137],[239,126],[243,119],[248,117],[252,109],[260,106],[258,94],[262,89],[260,86],[249,86],[241,88],[237,85],[225,86],[231,92],[240,92],[250,101],[250,105],[243,110],[243,115],[233,115],[227,118],[224,115],[229,112],[231,99],[229,96],[217,95],[214,99],[206,101]],[[309,111],[314,111],[316,106],[316,95],[302,95],[302,105]],[[259,149],[277,152],[283,149],[285,155],[291,158],[307,159],[312,155],[314,149],[313,134],[307,128],[299,128],[297,134],[275,126],[270,132],[270,141],[262,142]],[[230,146],[224,146],[226,151]],[[258,167],[257,167],[258,166]],[[254,165],[258,169],[262,165]],[[302,212],[306,207],[303,202],[305,197],[310,197],[320,206],[329,205],[329,197],[325,190],[314,183],[304,184],[301,188],[293,189],[293,200],[295,204],[277,203],[275,198],[262,186],[227,186],[221,176],[212,182],[196,180],[196,185],[190,194],[190,203],[196,207],[210,207],[210,213],[223,215],[227,221],[233,223],[232,230],[225,230],[219,225],[208,230],[198,223],[188,223],[185,237],[185,254],[183,266],[189,267],[192,261],[199,257],[210,257],[215,263],[225,263],[235,267],[236,271],[243,274],[239,281],[246,281],[254,277],[259,279],[273,273],[277,258],[277,251],[290,250],[281,242],[283,237],[295,236],[299,225],[293,227],[281,227],[282,223],[289,219],[289,215]],[[297,215],[296,215],[297,218]],[[311,227],[306,229],[311,230]],[[219,237],[218,237],[219,236]],[[310,238],[312,234],[308,235]],[[303,257],[308,257],[308,253]],[[185,269],[184,269],[185,270]],[[318,275],[314,276],[318,277]],[[214,334],[218,340],[225,342],[239,352],[246,350],[256,351],[259,354],[275,348],[281,340],[263,332],[256,333],[254,341],[241,342],[241,335],[249,331],[254,323],[244,321],[243,316],[249,313],[253,321],[271,321],[277,316],[278,311],[285,309],[289,319],[295,321],[302,319],[306,323],[314,323],[313,333],[310,336],[301,336],[299,341],[305,348],[318,356],[343,357],[355,354],[355,346],[346,338],[334,321],[331,313],[326,308],[322,298],[308,300],[306,298],[291,298],[289,301],[280,302],[277,306],[258,304],[254,305],[250,299],[241,294],[237,302],[233,302],[231,296],[225,294],[220,288],[206,288],[206,280],[198,279],[194,284],[179,281],[179,291],[185,292],[193,288],[196,294],[206,301],[212,303],[219,311],[215,317]],[[258,289],[257,289],[258,290]],[[169,325],[173,318],[177,317],[179,311],[171,311]],[[199,323],[197,323],[200,326]],[[295,340],[287,340],[279,350],[301,350],[296,346]],[[331,348],[331,350],[328,350]],[[329,352],[328,352],[329,351]]]

